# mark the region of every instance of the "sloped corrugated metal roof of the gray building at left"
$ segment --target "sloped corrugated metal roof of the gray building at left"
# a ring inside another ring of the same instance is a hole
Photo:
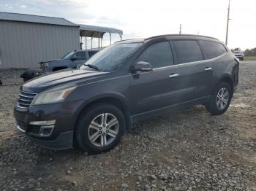
[[[43,23],[58,26],[77,26],[69,20],[59,17],[45,17],[39,15],[26,15],[12,12],[0,12],[0,20],[11,20],[27,23]]]

